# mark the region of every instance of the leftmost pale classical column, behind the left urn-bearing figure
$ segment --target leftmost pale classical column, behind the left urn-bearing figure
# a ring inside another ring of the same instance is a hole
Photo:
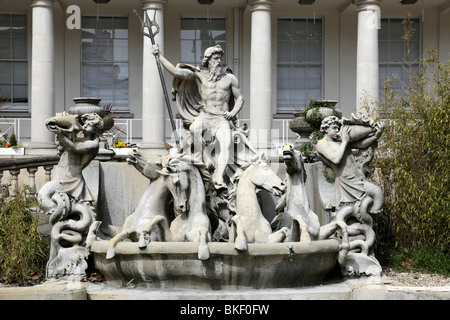
[[[30,153],[55,153],[55,135],[45,120],[55,115],[53,1],[33,0]],[[53,149],[53,150],[52,150]]]

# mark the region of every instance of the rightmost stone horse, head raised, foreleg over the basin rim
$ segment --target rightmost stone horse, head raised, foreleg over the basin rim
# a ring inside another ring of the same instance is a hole
[[[284,195],[284,212],[293,219],[291,241],[324,240],[332,236],[338,229],[342,231],[342,250],[339,260],[343,261],[349,249],[347,225],[342,220],[335,220],[320,226],[319,218],[311,210],[306,194],[306,173],[302,154],[292,145],[283,147],[283,159],[288,174],[286,193]]]

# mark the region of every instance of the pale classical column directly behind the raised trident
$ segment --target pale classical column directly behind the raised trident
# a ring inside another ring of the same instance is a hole
[[[143,9],[147,10],[148,17],[152,20],[155,17],[156,23],[160,27],[159,33],[155,36],[155,42],[159,45],[162,54],[164,54],[164,8],[166,2],[166,0],[143,1]],[[151,53],[151,40],[143,37],[142,144],[140,147],[159,153],[164,151],[162,147],[166,133],[166,105],[155,56]]]

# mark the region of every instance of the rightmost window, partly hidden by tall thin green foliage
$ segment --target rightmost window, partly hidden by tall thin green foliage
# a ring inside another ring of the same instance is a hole
[[[381,29],[378,35],[379,61],[380,61],[380,96],[383,95],[383,84],[392,75],[396,75],[400,84],[409,86],[411,72],[416,73],[419,68],[420,58],[420,22],[419,19],[411,19],[412,28],[415,30],[409,40],[410,55],[406,41],[403,19],[382,19]],[[414,74],[412,75],[414,77]],[[401,88],[398,88],[401,90]]]

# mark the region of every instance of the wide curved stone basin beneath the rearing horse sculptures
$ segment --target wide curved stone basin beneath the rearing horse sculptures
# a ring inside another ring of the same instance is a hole
[[[234,243],[208,243],[210,258],[199,260],[198,243],[151,242],[139,249],[122,242],[107,260],[108,241],[91,246],[96,268],[112,286],[153,289],[233,290],[293,288],[322,281],[335,264],[336,239],[313,242],[251,243],[239,252]]]

